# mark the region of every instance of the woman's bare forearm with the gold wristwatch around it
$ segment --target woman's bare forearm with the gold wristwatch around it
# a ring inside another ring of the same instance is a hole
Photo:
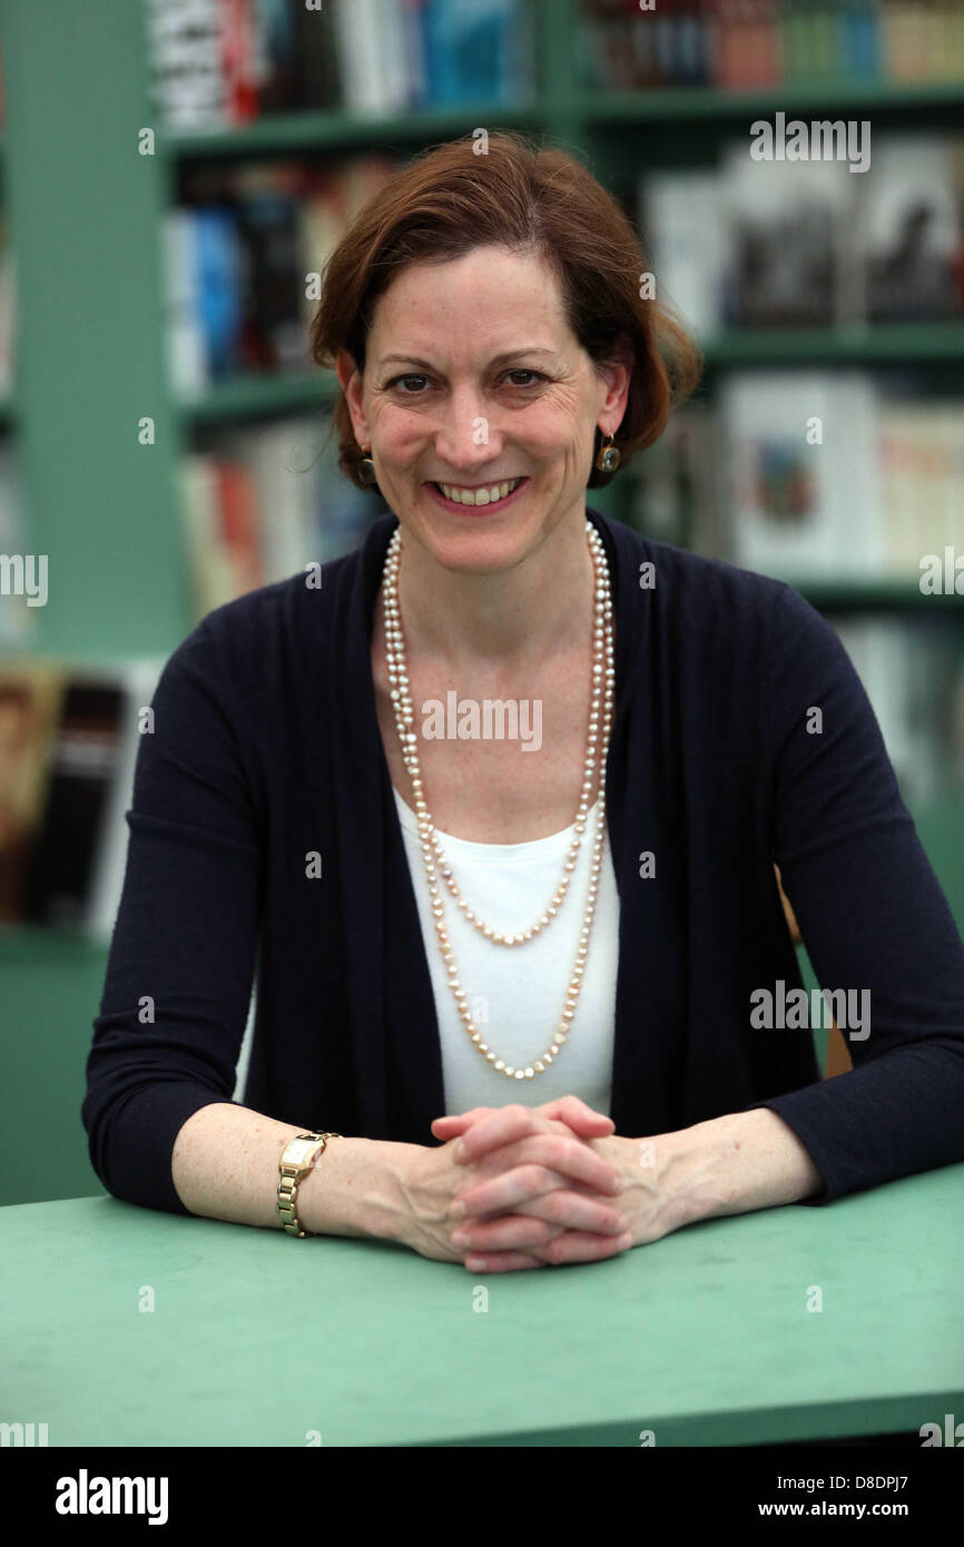
[[[192,1214],[232,1224],[280,1228],[279,1159],[292,1123],[214,1101],[179,1129],[172,1179]],[[418,1145],[373,1139],[331,1139],[297,1188],[302,1228],[313,1235],[402,1239],[401,1177]]]

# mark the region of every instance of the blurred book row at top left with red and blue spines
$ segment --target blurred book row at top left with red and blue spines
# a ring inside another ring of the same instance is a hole
[[[145,0],[169,130],[532,99],[528,0]]]

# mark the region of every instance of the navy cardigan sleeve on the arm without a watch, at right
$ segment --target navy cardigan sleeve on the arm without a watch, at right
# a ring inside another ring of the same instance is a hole
[[[794,1129],[825,1180],[802,1202],[826,1204],[964,1160],[964,945],[853,662],[786,585],[764,724],[772,857],[817,982],[870,1010],[840,1027],[853,1071],[754,1103]]]

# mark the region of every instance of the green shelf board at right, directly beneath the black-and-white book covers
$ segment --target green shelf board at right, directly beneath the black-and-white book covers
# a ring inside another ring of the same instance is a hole
[[[964,359],[964,320],[853,328],[732,330],[702,345],[707,368],[727,365],[873,365]]]

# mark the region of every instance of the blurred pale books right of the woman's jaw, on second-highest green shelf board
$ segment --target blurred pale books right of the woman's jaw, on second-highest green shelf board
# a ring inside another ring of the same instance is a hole
[[[676,546],[797,588],[964,596],[961,399],[890,394],[867,371],[729,371],[627,472],[631,523]]]

